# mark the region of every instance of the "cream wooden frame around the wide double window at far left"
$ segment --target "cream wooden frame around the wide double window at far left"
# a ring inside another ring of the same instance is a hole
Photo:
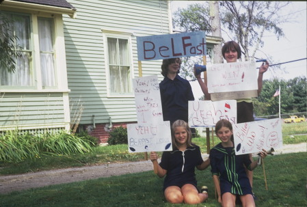
[[[37,12],[19,12],[18,10],[1,10],[7,14],[29,16],[29,36],[30,40],[30,71],[34,85],[16,86],[1,85],[0,92],[70,92],[68,89],[66,53],[64,41],[64,25],[62,14],[38,14]],[[54,31],[53,50],[54,50],[54,73],[55,86],[42,86],[42,70],[40,68],[40,47],[38,38],[38,18],[50,18],[53,21]]]

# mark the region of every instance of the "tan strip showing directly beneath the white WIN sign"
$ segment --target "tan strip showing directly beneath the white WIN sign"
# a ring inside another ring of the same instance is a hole
[[[241,91],[241,92],[223,92],[223,93],[213,93],[211,94],[211,100],[230,100],[230,99],[244,99],[257,97],[258,91]]]

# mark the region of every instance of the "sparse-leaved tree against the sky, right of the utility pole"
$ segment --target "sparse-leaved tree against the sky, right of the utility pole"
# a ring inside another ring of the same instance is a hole
[[[254,57],[264,42],[265,31],[276,38],[284,36],[281,23],[289,22],[289,16],[280,16],[280,10],[289,5],[287,1],[221,1],[222,24],[230,32],[245,54],[245,60]],[[233,37],[233,38],[232,38]],[[250,50],[253,48],[253,50]]]

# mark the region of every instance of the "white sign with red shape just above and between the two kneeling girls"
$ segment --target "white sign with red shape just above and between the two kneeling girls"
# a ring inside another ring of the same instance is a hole
[[[190,100],[189,101],[189,126],[208,127],[215,126],[219,120],[228,120],[237,123],[236,100]]]

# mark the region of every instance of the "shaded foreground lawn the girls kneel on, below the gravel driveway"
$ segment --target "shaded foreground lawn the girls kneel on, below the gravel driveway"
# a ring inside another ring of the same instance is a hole
[[[256,206],[307,206],[306,157],[307,152],[267,156],[265,171],[268,190],[265,189],[263,168],[257,167],[254,170],[254,193],[258,197]],[[197,205],[165,202],[163,179],[152,171],[146,171],[0,195],[0,206],[219,206],[214,198],[210,170],[196,170],[196,178],[199,186],[205,184],[209,187],[208,201]]]

